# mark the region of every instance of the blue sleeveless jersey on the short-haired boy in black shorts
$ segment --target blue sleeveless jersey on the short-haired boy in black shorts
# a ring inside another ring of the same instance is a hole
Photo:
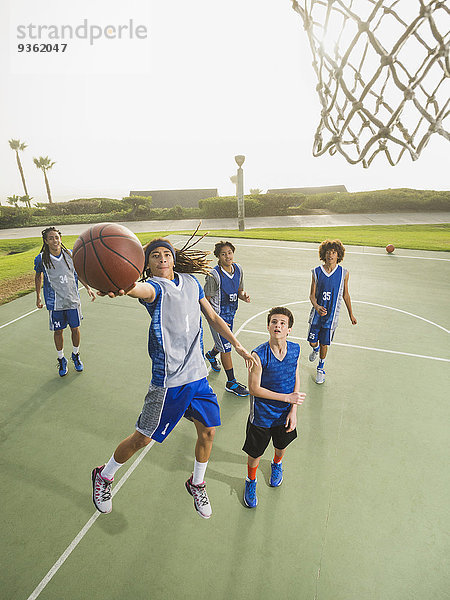
[[[291,394],[295,388],[300,356],[299,344],[287,342],[287,351],[283,360],[276,358],[269,342],[261,344],[253,352],[261,361],[261,387],[279,394]],[[291,404],[279,400],[250,396],[250,422],[258,427],[284,425],[291,406]]]

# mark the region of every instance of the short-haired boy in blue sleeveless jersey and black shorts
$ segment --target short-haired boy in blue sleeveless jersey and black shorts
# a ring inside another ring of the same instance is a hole
[[[271,465],[270,485],[283,481],[282,459],[287,446],[297,437],[297,405],[303,404],[300,392],[300,346],[287,341],[294,324],[291,311],[284,306],[272,308],[267,315],[269,341],[252,355],[256,360],[248,376],[250,415],[242,448],[247,453],[244,504],[255,508],[256,471],[261,456],[272,439],[275,455]]]

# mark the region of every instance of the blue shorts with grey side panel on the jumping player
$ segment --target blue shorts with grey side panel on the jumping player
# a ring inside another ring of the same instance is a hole
[[[217,396],[206,377],[173,388],[150,384],[136,430],[163,442],[181,417],[196,419],[205,427],[220,425]]]

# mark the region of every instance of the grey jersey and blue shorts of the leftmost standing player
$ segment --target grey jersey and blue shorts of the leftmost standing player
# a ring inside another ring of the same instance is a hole
[[[59,256],[50,254],[51,267],[46,267],[42,252],[34,259],[34,270],[43,273],[45,306],[49,311],[50,330],[78,327],[81,319],[81,300],[78,292],[78,276],[70,252],[61,251]]]

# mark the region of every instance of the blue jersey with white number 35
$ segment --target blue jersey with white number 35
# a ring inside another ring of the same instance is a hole
[[[347,269],[337,265],[331,273],[327,273],[323,266],[320,266],[313,269],[312,274],[316,282],[316,302],[319,306],[327,309],[327,314],[321,317],[312,307],[309,323],[312,326],[334,330],[337,327],[341,310]]]

